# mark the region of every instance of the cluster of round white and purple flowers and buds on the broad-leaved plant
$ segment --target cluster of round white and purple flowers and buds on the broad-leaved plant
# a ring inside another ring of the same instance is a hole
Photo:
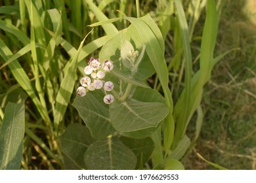
[[[83,76],[80,79],[80,84],[77,88],[77,95],[83,97],[89,91],[104,89],[104,92],[110,92],[114,88],[114,84],[111,81],[105,82],[102,80],[105,77],[107,71],[111,71],[114,67],[114,64],[110,60],[104,61],[102,64],[103,71],[98,71],[100,69],[100,61],[95,58],[91,58],[88,65],[85,67],[84,72],[86,76]],[[114,101],[114,96],[111,94],[106,94],[104,103],[111,104]]]

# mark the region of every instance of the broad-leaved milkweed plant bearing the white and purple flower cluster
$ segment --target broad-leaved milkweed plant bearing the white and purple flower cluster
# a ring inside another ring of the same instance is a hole
[[[83,129],[85,138],[92,139],[83,150],[81,168],[142,168],[154,150],[150,135],[169,113],[160,93],[143,81],[154,69],[145,53],[146,44],[131,37],[132,31],[135,27],[106,42],[100,58],[91,58],[83,69],[85,76],[73,105],[87,127],[71,125],[61,137],[67,156],[72,152],[65,151],[66,145],[74,144],[64,139],[73,128]]]

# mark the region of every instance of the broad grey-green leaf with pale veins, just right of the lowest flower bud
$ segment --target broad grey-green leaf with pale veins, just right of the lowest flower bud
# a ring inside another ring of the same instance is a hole
[[[110,118],[117,131],[130,132],[156,127],[168,112],[169,109],[164,103],[127,99],[110,107]]]

